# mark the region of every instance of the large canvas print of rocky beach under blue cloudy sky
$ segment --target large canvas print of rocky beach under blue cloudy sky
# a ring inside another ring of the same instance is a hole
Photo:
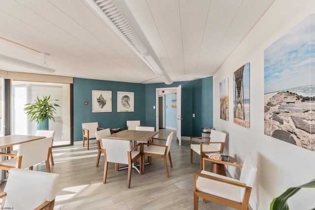
[[[264,51],[264,132],[315,151],[315,15]]]

